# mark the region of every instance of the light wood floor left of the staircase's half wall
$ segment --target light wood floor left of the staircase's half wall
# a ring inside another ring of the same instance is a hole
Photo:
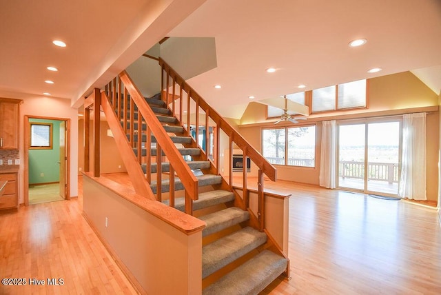
[[[81,201],[80,195],[0,215],[0,278],[26,279],[0,284],[0,294],[136,294],[83,218]],[[30,278],[45,285],[29,285]],[[63,285],[49,286],[48,278],[63,278]]]

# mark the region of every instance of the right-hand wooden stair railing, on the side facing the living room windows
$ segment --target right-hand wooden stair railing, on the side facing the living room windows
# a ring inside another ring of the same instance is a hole
[[[223,119],[216,110],[214,110],[185,80],[179,76],[179,74],[173,70],[170,65],[167,65],[161,57],[159,58],[159,65],[162,68],[162,88],[163,89],[163,101],[167,103],[172,109],[172,112],[181,121],[181,125],[185,128],[185,133],[194,138],[196,145],[199,143],[200,126],[205,128],[205,146],[202,150],[202,158],[205,161],[210,161],[216,174],[220,174],[220,130],[222,130],[229,139],[229,179],[228,184],[230,190],[233,189],[233,154],[235,147],[242,151],[243,156],[243,209],[249,209],[249,192],[247,183],[247,158],[249,158],[258,167],[258,204],[257,214],[260,230],[265,228],[265,196],[263,194],[263,180],[266,175],[271,181],[276,181],[276,168],[269,163],[255,148],[252,147],[225,119]],[[178,101],[178,103],[176,103]],[[186,110],[185,110],[186,109]],[[194,112],[193,112],[194,110]],[[187,112],[187,117],[184,117],[184,113]],[[192,120],[190,114],[195,114]],[[201,114],[203,116],[201,116]],[[185,121],[186,120],[186,121]],[[202,121],[201,121],[202,120]],[[194,122],[194,130],[191,130],[192,121]],[[213,136],[214,146],[213,151],[209,150],[210,144],[208,144],[210,134],[210,128],[214,128],[216,132]]]

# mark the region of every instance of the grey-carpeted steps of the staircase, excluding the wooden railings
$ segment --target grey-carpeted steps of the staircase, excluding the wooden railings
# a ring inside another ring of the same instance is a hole
[[[184,136],[184,128],[179,125],[178,120],[172,115],[171,110],[161,101],[161,95],[145,99],[150,106],[156,118],[163,123],[163,128],[170,134],[172,142],[178,145],[178,151],[183,156],[200,156],[202,150],[200,148],[185,148],[184,144],[190,145],[193,141],[191,136]],[[135,112],[135,119],[137,113]],[[135,125],[135,128],[138,128]],[[127,139],[130,134],[127,134]],[[142,146],[147,143],[146,134],[135,136],[134,142],[137,143],[141,139]],[[151,136],[151,143],[156,143],[154,136]],[[138,154],[138,149],[133,148],[134,153]],[[141,149],[142,156],[147,155],[147,149]],[[151,156],[158,156],[156,148],[152,148]],[[210,167],[209,161],[186,161],[187,165],[195,172],[198,179],[199,187],[216,187],[222,183],[222,176],[216,174],[204,174],[204,171]],[[141,165],[143,172],[147,172],[147,165]],[[170,172],[170,163],[162,163],[162,172]],[[152,163],[150,167],[152,173],[157,172],[156,163]],[[158,183],[151,181],[150,187],[152,192],[156,194]],[[180,179],[175,180],[174,190],[183,190],[184,187]],[[170,181],[165,179],[161,182],[161,191],[163,193],[170,192]],[[193,210],[207,210],[209,207],[225,207],[215,212],[198,216],[207,223],[207,227],[203,230],[203,237],[207,243],[203,246],[203,280],[212,276],[217,278],[216,274],[225,273],[225,267],[235,261],[255,252],[256,255],[247,259],[245,263],[237,265],[237,267],[217,281],[203,289],[203,294],[258,294],[275,278],[280,276],[287,268],[287,259],[278,254],[274,254],[269,250],[265,250],[267,243],[267,235],[259,232],[254,228],[247,226],[249,221],[249,212],[241,210],[238,207],[231,206],[235,196],[233,192],[227,190],[209,190],[198,195],[198,200],[193,203]],[[163,203],[169,205],[169,200]],[[174,207],[184,211],[185,199],[183,197],[176,198]],[[203,214],[203,213],[202,213]],[[221,232],[229,232],[229,234],[220,234]],[[210,238],[211,236],[211,238]],[[212,241],[214,240],[214,241]],[[213,281],[213,279],[212,279]]]

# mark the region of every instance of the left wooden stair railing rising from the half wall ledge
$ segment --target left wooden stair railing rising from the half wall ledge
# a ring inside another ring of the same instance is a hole
[[[136,150],[138,164],[146,167],[145,181],[152,183],[152,174],[156,174],[156,199],[162,201],[162,164],[163,155],[165,155],[170,162],[170,206],[174,207],[176,174],[185,188],[185,212],[192,214],[192,200],[198,199],[198,179],[185,163],[183,156],[127,72],[123,71],[118,77],[112,79],[105,86],[105,94],[117,119],[122,122],[123,133],[128,134],[128,143]],[[136,115],[135,109],[137,109]],[[137,116],[136,119],[135,116]],[[144,135],[146,136],[145,146],[142,144]],[[154,172],[151,169],[151,159],[154,156],[151,147],[152,136],[156,139],[156,170]],[[143,150],[146,151],[145,154]]]

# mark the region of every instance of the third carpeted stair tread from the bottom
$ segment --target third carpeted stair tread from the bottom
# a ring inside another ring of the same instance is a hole
[[[249,219],[249,212],[238,207],[229,207],[224,210],[200,216],[201,221],[205,221],[207,226],[202,232],[202,236],[208,236],[215,232],[220,232],[227,227],[232,227]]]

